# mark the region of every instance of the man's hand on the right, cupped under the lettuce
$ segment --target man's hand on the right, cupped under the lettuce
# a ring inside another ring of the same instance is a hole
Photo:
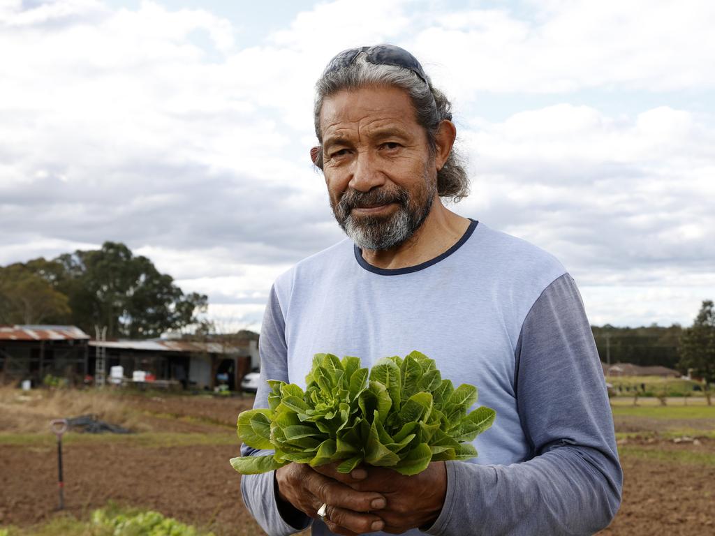
[[[323,467],[316,467],[322,472]],[[401,534],[415,527],[429,527],[439,517],[447,495],[445,462],[431,462],[423,472],[410,477],[384,467],[362,467],[353,476],[365,478],[347,482],[359,492],[380,492],[387,505],[375,512],[385,521],[385,532]]]

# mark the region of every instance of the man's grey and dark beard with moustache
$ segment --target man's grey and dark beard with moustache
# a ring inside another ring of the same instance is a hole
[[[429,180],[426,180],[429,184]],[[332,206],[332,211],[342,230],[360,249],[384,251],[404,244],[415,234],[430,214],[436,189],[436,184],[428,185],[427,199],[419,207],[412,206],[413,199],[409,192],[403,188],[398,188],[393,192],[378,190],[363,193],[350,190],[343,194],[337,206]],[[351,209],[356,205],[365,206],[390,202],[398,204],[398,210],[389,217],[355,218],[352,216]]]

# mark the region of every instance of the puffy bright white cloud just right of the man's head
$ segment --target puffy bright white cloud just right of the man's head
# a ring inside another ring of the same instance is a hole
[[[613,118],[590,106],[558,104],[519,112],[500,124],[473,121],[465,136],[475,157],[488,159],[489,165],[548,162],[570,169],[571,175],[583,164],[638,160],[657,162],[663,169],[664,164],[693,167],[715,161],[715,132],[689,111],[667,106]]]

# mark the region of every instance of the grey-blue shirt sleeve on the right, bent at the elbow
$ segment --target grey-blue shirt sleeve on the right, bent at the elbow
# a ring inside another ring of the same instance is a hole
[[[515,357],[531,459],[447,462],[447,495],[431,535],[590,535],[618,511],[623,472],[606,382],[569,274],[533,304]]]

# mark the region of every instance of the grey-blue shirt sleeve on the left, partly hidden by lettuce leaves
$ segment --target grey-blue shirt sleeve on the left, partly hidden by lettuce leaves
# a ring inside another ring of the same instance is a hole
[[[285,319],[275,287],[271,288],[258,342],[261,359],[260,382],[253,407],[268,407],[267,379],[288,381]],[[242,456],[265,456],[272,450],[256,450],[242,445]],[[275,471],[260,475],[242,475],[241,494],[251,515],[270,536],[287,536],[300,532],[312,519],[290,505],[279,510],[275,490]],[[281,513],[283,515],[281,515]]]

